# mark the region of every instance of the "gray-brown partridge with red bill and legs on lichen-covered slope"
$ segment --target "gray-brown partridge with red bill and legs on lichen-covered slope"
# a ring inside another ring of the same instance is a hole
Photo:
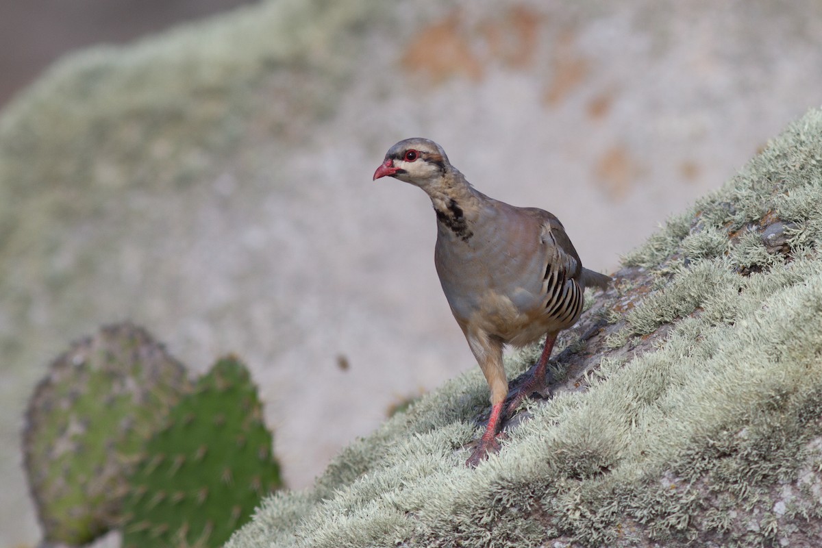
[[[499,451],[503,421],[524,398],[547,388],[556,335],[580,317],[584,289],[606,289],[612,279],[583,268],[555,215],[484,195],[432,140],[412,138],[393,145],[372,180],[381,177],[420,187],[431,198],[436,273],[491,393],[485,432],[465,463],[476,467]],[[509,394],[503,349],[536,343],[543,336],[533,373]]]

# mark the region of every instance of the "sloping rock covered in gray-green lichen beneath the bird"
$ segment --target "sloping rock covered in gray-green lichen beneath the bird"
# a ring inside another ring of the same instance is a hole
[[[594,365],[563,352],[576,388],[529,403],[498,456],[463,466],[487,405],[472,371],[353,442],[312,489],[266,500],[227,546],[811,546],[820,204],[813,110],[625,258],[587,313],[607,319]]]

